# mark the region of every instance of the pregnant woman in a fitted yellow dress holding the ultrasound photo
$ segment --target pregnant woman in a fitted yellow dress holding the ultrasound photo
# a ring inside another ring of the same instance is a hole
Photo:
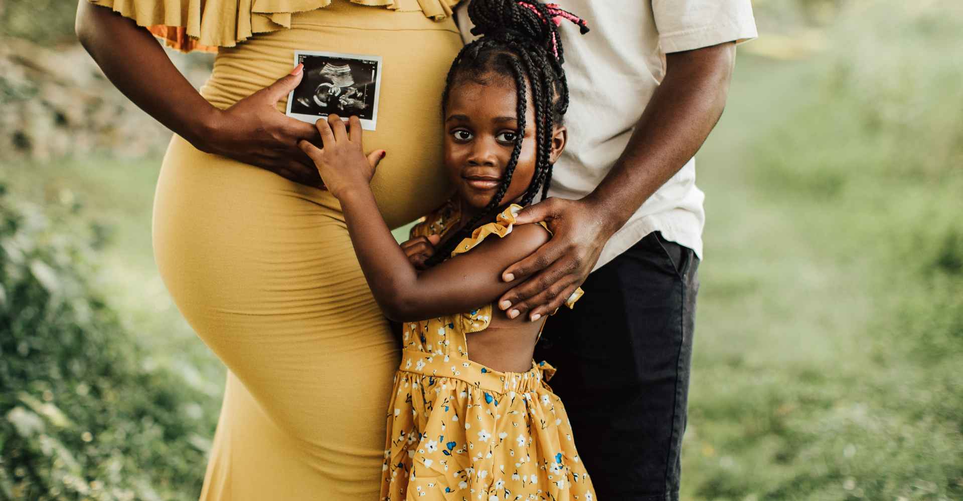
[[[303,77],[289,74],[296,50],[379,56],[377,129],[365,132],[371,151],[389,152],[378,208],[392,226],[429,213],[448,194],[430,170],[442,165],[438,96],[461,47],[456,2],[81,0],[91,56],[175,133],[154,252],[229,369],[201,499],[377,499],[398,342],[337,200],[297,147],[317,139],[314,126],[279,110]],[[199,93],[145,27],[182,50],[217,47]]]

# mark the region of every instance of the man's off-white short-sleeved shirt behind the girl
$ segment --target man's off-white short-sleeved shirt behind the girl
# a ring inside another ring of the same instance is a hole
[[[472,24],[456,10],[462,38]],[[549,195],[577,199],[602,182],[622,154],[665,75],[665,54],[756,38],[749,0],[560,0],[591,30],[560,25],[571,103],[568,144],[552,172]],[[702,257],[705,195],[695,187],[695,159],[638,208],[609,240],[595,268],[654,231]]]

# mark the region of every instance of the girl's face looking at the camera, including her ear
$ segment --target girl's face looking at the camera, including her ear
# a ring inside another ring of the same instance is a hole
[[[532,90],[527,89],[528,111],[524,131],[518,130],[517,95],[510,79],[486,75],[481,85],[471,79],[456,82],[449,91],[445,112],[445,167],[462,209],[470,215],[488,206],[502,186],[515,139],[522,136],[522,151],[502,198],[504,204],[522,196],[535,170],[535,127]],[[553,131],[549,162],[555,163],[565,143],[565,130]]]

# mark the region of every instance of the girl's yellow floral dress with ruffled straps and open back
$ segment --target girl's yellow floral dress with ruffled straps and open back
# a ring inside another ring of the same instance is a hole
[[[442,235],[459,214],[448,203],[411,230]],[[511,232],[512,205],[452,253]],[[581,295],[573,294],[567,305]],[[381,499],[444,501],[595,498],[561,400],[545,383],[555,369],[500,372],[468,360],[466,333],[491,321],[492,306],[407,322],[402,364],[387,415]]]

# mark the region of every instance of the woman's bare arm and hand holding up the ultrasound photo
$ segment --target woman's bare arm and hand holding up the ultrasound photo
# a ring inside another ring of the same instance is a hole
[[[274,108],[298,86],[302,72],[287,75],[221,111],[201,97],[170,63],[160,43],[133,20],[80,0],[76,32],[124,95],[195,148],[257,165],[301,184],[322,186],[317,169],[298,148],[299,139],[314,140],[317,130]]]

